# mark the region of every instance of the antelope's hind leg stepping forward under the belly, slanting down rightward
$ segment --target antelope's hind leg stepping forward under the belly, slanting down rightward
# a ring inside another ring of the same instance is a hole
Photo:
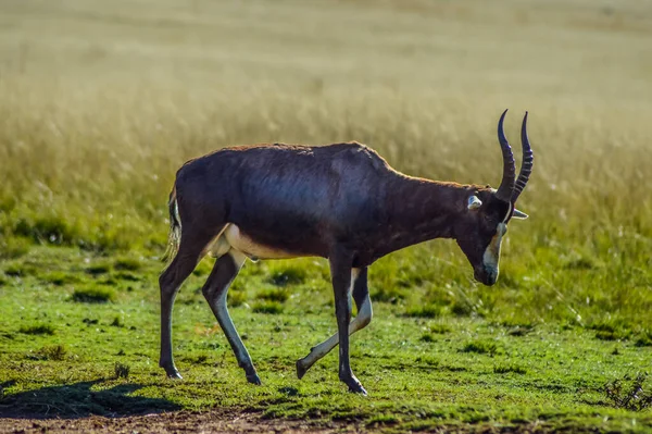
[[[233,280],[238,275],[246,259],[244,255],[234,249],[230,249],[226,255],[220,257],[215,262],[215,266],[213,268],[209,280],[202,288],[202,293],[236,355],[238,365],[244,370],[247,381],[253,384],[261,384],[261,380],[255,372],[249,351],[247,351],[242,339],[238,335],[226,307],[226,294],[228,287]]]

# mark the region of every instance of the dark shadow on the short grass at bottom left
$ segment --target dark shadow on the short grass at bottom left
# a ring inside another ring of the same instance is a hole
[[[180,406],[166,399],[129,396],[142,387],[140,384],[121,384],[109,389],[91,390],[93,385],[103,381],[79,382],[0,396],[0,418],[53,419],[93,414],[121,418],[180,410]]]

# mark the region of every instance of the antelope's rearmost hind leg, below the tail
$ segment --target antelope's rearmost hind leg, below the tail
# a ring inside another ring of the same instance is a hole
[[[161,286],[161,356],[159,365],[171,379],[181,379],[172,356],[172,309],[176,295],[184,281],[192,273],[201,260],[205,246],[212,236],[181,232],[181,243],[170,266],[159,277]]]

